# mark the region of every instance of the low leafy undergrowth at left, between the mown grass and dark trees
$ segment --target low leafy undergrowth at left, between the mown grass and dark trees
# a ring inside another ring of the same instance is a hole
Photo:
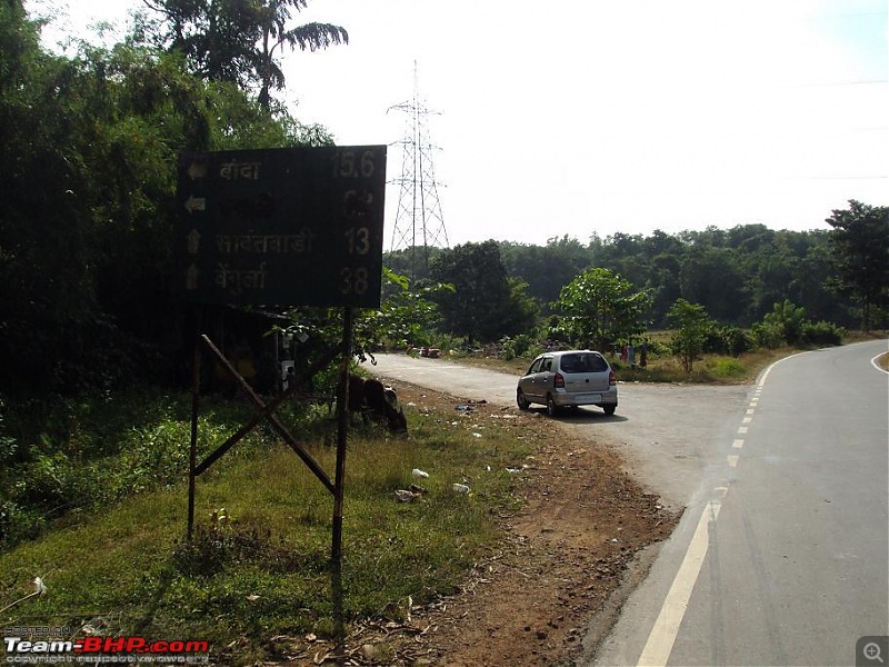
[[[189,395],[146,391],[22,401],[13,409],[0,404],[0,548],[39,536],[76,510],[184,479],[189,404]],[[246,421],[248,410],[241,402],[204,400],[199,460]],[[250,456],[272,440],[268,434],[261,425],[227,458]]]

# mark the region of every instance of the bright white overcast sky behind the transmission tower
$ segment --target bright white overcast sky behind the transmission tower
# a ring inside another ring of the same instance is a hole
[[[27,2],[67,30],[138,4]],[[291,112],[391,145],[390,179],[416,61],[451,246],[827,229],[848,199],[889,205],[886,0],[310,0],[300,19],[350,43],[284,56]]]

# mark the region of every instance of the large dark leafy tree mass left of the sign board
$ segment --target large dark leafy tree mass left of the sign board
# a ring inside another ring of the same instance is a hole
[[[179,345],[178,152],[323,132],[189,74],[176,56],[44,52],[18,0],[0,0],[0,182],[16,183],[0,188],[0,391],[144,378]]]

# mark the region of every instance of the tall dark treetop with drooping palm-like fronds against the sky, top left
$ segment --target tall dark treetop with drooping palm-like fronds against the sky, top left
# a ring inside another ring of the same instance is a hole
[[[271,92],[284,87],[279,49],[318,50],[349,43],[340,26],[291,26],[293,12],[308,0],[142,0],[161,17],[143,22],[141,33],[169,51],[181,53],[189,69],[209,81],[258,89],[269,108]]]

